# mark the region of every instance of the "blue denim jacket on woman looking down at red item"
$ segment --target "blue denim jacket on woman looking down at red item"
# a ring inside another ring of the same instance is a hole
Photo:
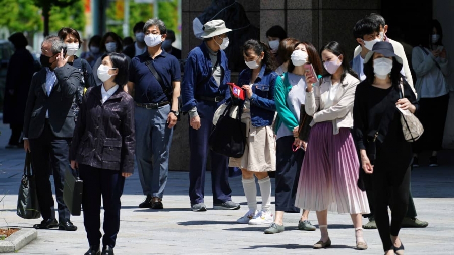
[[[252,85],[251,102],[251,123],[253,126],[271,125],[276,112],[274,102],[274,85],[278,75],[276,72],[265,72],[266,65],[263,65],[257,79]],[[238,77],[238,86],[250,84],[252,69],[241,71]],[[279,78],[280,79],[280,78]]]

